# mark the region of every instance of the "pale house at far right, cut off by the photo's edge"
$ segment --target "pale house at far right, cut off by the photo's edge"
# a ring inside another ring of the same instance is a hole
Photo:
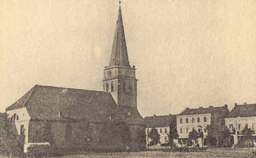
[[[225,118],[225,124],[233,136],[234,144],[237,144],[245,136],[245,129],[253,131],[252,138],[256,144],[256,104],[235,104],[229,115]]]

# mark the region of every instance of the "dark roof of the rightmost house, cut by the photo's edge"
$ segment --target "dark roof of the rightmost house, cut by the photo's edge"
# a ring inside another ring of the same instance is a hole
[[[227,118],[256,116],[256,104],[235,105]]]

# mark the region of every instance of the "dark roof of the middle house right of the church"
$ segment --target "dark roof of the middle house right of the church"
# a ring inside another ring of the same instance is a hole
[[[195,115],[195,114],[206,114],[206,113],[224,113],[224,115],[228,114],[228,106],[220,106],[220,107],[199,107],[199,108],[186,108],[179,115]]]

